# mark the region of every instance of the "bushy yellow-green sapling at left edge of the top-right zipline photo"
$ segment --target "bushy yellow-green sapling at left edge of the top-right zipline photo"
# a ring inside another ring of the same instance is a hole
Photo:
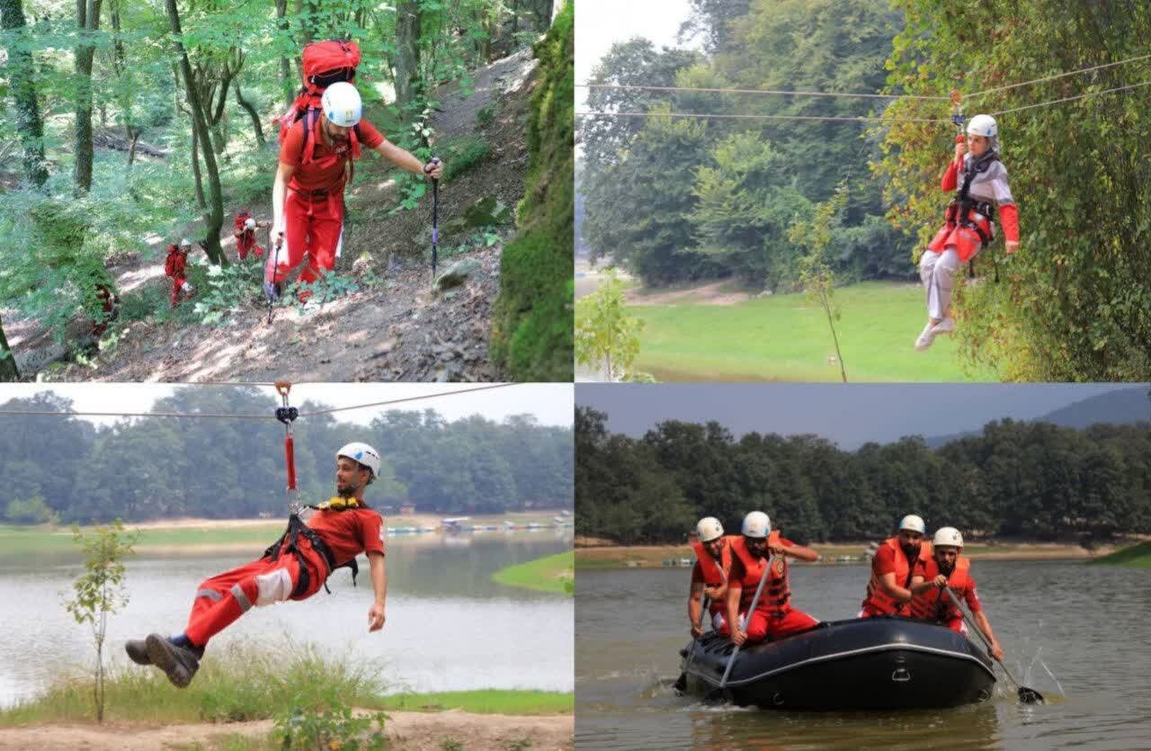
[[[630,380],[643,321],[627,313],[616,270],[605,276],[599,289],[576,302],[576,362],[608,381]]]

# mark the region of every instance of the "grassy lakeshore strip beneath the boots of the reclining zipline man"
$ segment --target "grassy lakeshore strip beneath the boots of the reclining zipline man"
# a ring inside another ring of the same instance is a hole
[[[119,650],[119,644],[116,648]],[[122,654],[122,653],[120,653]],[[555,691],[480,690],[384,696],[384,666],[325,657],[311,645],[282,648],[233,645],[209,651],[186,689],[176,689],[152,667],[117,661],[106,683],[105,721],[112,723],[246,722],[272,719],[292,707],[317,711],[326,697],[364,710],[565,714],[574,696]],[[83,722],[96,718],[92,676],[61,677],[17,706],[0,710],[0,727]]]

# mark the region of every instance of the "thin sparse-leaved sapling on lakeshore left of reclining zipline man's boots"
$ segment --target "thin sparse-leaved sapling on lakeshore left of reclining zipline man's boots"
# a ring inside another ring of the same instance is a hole
[[[104,722],[105,670],[104,642],[108,629],[108,615],[128,605],[124,582],[124,557],[134,555],[135,532],[125,532],[117,518],[108,526],[97,526],[89,533],[73,526],[73,541],[84,548],[84,572],[73,583],[75,598],[64,607],[77,623],[87,623],[92,629],[96,647],[96,669],[92,686],[96,721]]]

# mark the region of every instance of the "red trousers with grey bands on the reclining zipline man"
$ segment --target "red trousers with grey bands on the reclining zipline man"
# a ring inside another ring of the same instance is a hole
[[[308,586],[299,597],[292,596],[300,571],[299,559],[294,553],[282,553],[275,561],[252,561],[200,582],[184,635],[192,644],[204,646],[252,606],[305,600],[315,594],[323,585],[327,566],[306,540],[300,540],[300,546],[307,559]]]

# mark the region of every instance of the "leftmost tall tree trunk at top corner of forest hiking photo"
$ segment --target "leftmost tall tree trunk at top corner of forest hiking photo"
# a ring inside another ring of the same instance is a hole
[[[13,32],[7,67],[16,109],[16,132],[24,150],[24,176],[40,190],[48,180],[48,169],[44,165],[44,122],[32,81],[32,53],[24,46],[29,39],[21,0],[0,0],[0,26]],[[2,342],[3,332],[0,332]],[[3,363],[0,363],[0,380],[3,380]]]

